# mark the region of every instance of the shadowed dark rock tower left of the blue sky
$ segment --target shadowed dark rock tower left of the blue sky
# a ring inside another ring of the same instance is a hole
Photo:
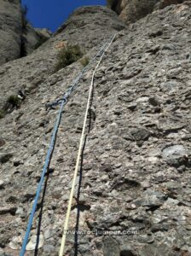
[[[31,54],[49,37],[28,23],[20,0],[0,0],[0,65]]]

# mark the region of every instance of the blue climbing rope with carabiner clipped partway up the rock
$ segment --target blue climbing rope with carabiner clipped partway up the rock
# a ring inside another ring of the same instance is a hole
[[[112,37],[112,39],[113,39],[113,37]],[[54,152],[55,140],[56,140],[57,132],[58,132],[58,129],[59,129],[59,125],[61,123],[61,115],[62,115],[63,108],[67,104],[68,97],[72,94],[72,90],[74,90],[74,88],[78,85],[78,82],[82,78],[85,70],[87,70],[88,67],[90,67],[90,64],[93,63],[96,60],[96,58],[102,54],[104,49],[107,48],[107,45],[110,43],[110,41],[111,40],[109,40],[106,44],[104,44],[101,47],[101,49],[99,50],[99,52],[92,58],[92,60],[89,62],[89,64],[86,67],[83,68],[81,73],[79,73],[77,79],[74,80],[73,84],[67,90],[67,93],[64,96],[62,96],[62,98],[60,100],[58,100],[56,102],[53,102],[53,103],[50,103],[49,106],[48,106],[48,107],[51,107],[51,105],[55,106],[55,105],[61,104],[60,111],[59,111],[57,119],[55,121],[55,128],[54,128],[54,131],[52,133],[51,141],[50,141],[50,144],[49,144],[49,150],[48,150],[48,153],[46,155],[45,163],[44,163],[44,166],[43,166],[43,172],[42,172],[42,175],[41,175],[41,178],[40,178],[40,182],[38,183],[37,193],[35,195],[35,199],[34,199],[34,202],[33,202],[33,205],[32,205],[32,212],[31,212],[30,218],[28,220],[25,238],[23,240],[22,247],[21,247],[21,250],[20,250],[20,256],[24,256],[25,253],[26,253],[26,245],[27,245],[28,238],[29,238],[29,235],[30,235],[30,232],[31,232],[31,229],[32,229],[32,221],[33,221],[34,214],[36,212],[36,208],[37,208],[37,205],[38,205],[38,199],[39,199],[39,195],[40,195],[40,192],[41,192],[41,189],[42,189],[43,179],[44,179],[44,176],[45,176],[45,174],[46,174],[46,172],[49,168],[51,156]]]

